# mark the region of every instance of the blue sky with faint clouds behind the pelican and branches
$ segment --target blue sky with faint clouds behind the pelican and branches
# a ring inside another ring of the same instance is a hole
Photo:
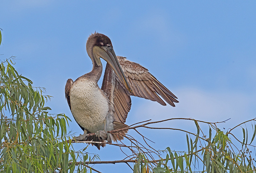
[[[69,130],[79,134],[64,87],[68,78],[75,80],[91,71],[85,43],[97,31],[111,39],[116,55],[148,68],[180,101],[173,108],[132,97],[126,124],[170,117],[214,122],[231,118],[220,125],[228,129],[255,117],[255,9],[255,1],[4,0],[0,58],[20,59],[16,70],[32,79],[34,86],[47,89],[53,96],[47,106],[52,113],[71,117]],[[179,123],[165,126],[194,128],[193,123]],[[142,132],[159,150],[167,146],[182,150],[182,142],[168,140],[178,137],[174,132],[161,132],[165,143],[159,131]],[[113,150],[88,148],[101,160],[114,159]],[[122,163],[95,168],[103,172],[128,169]]]

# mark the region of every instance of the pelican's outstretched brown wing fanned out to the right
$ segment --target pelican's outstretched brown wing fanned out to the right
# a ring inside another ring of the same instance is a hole
[[[101,89],[107,94],[110,104],[115,110],[115,121],[125,122],[127,114],[131,109],[130,95],[156,101],[164,106],[166,103],[159,95],[173,107],[175,106],[174,102],[178,103],[177,97],[150,74],[148,69],[122,56],[117,56],[117,59],[132,87],[132,93],[128,93],[113,69],[107,64]]]

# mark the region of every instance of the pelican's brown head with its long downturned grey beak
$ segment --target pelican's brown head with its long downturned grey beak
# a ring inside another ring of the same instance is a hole
[[[132,88],[124,76],[124,72],[117,60],[111,40],[106,35],[96,32],[91,34],[86,42],[86,51],[92,59],[93,67],[102,67],[100,58],[104,59],[115,71],[117,77],[124,84],[126,89],[132,93]]]

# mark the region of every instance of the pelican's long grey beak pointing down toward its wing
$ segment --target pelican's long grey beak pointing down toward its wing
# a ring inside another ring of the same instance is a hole
[[[116,57],[116,54],[114,52],[114,49],[112,46],[104,46],[104,47],[99,47],[104,50],[104,56],[100,56],[102,59],[107,61],[107,63],[112,67],[112,69],[115,71],[117,77],[120,79],[120,81],[124,84],[126,89],[132,93],[132,88],[130,84],[128,83],[126,77],[124,76],[124,72],[118,62],[118,59]]]

